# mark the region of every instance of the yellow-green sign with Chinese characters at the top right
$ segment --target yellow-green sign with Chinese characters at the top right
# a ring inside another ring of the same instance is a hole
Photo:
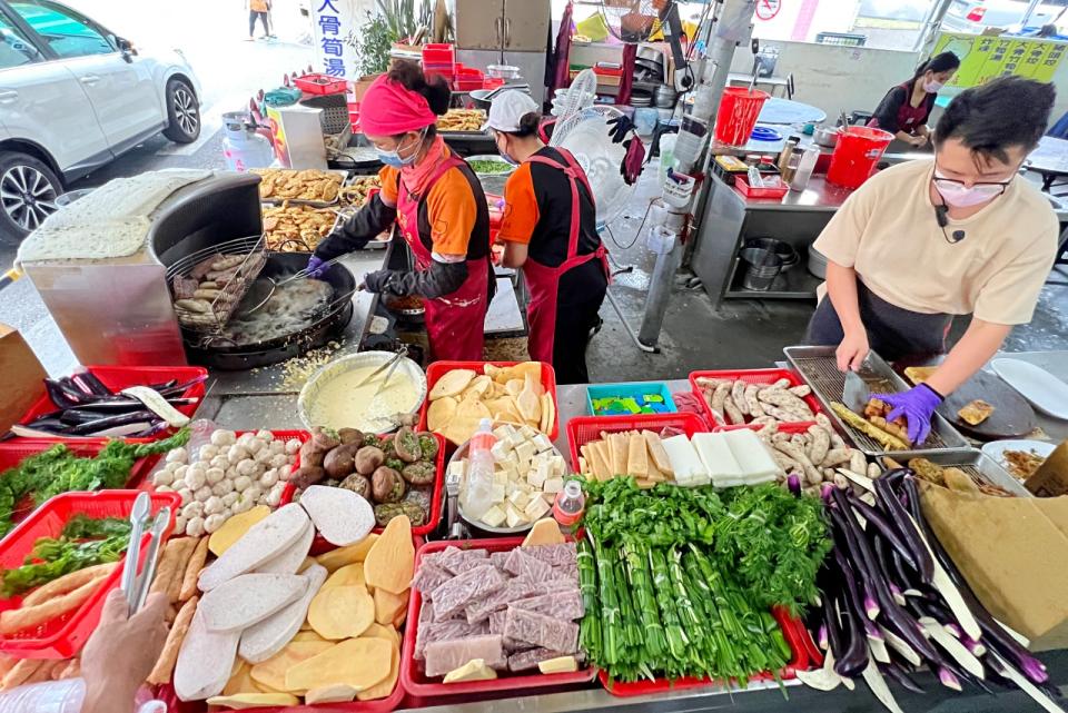
[[[1052,81],[1066,49],[1068,43],[1040,38],[943,33],[932,53],[950,51],[960,58],[949,86],[966,89],[1008,75]]]

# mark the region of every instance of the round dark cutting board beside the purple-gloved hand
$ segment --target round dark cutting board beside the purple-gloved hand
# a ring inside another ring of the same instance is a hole
[[[977,398],[993,406],[993,413],[978,426],[972,426],[965,423],[957,412]],[[1001,377],[989,372],[979,372],[965,382],[938,407],[938,413],[958,430],[979,440],[1021,438],[1038,426],[1031,405]]]

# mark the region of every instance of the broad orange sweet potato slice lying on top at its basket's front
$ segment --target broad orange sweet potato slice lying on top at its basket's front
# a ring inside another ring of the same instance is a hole
[[[392,652],[393,645],[383,638],[348,638],[290,667],[286,690],[310,691],[344,683],[365,691],[389,675]]]

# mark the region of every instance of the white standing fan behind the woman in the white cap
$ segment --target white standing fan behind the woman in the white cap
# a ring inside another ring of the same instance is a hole
[[[597,207],[599,229],[619,216],[634,194],[634,186],[627,186],[620,172],[626,146],[612,141],[613,126],[609,123],[625,116],[614,107],[586,107],[575,115],[562,117],[550,143],[567,149],[586,172]]]

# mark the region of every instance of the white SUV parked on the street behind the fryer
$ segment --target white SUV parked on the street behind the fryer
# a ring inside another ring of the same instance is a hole
[[[51,0],[0,0],[0,240],[17,245],[63,185],[162,132],[200,136],[199,83],[177,50],[140,55]]]

